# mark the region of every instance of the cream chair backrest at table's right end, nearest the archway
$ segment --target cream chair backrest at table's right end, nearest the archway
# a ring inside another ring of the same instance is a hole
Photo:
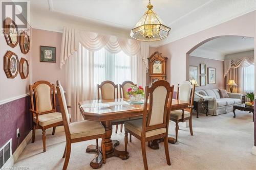
[[[195,88],[196,85],[192,85],[189,81],[183,81],[178,84],[177,99],[186,101],[189,103],[189,106],[192,106],[194,102]]]

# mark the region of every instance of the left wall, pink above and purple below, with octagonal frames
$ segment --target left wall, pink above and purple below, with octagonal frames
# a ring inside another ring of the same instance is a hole
[[[30,28],[31,30],[31,28]],[[28,31],[30,40],[31,31]],[[32,41],[31,41],[32,44]],[[8,79],[4,71],[4,55],[7,51],[14,52],[18,59],[25,58],[29,62],[29,76],[27,79],[18,75],[14,79]],[[32,50],[28,54],[22,54],[19,43],[14,48],[7,45],[5,37],[0,35],[0,148],[12,138],[12,153],[24,140],[32,128],[31,113],[29,112],[30,102],[28,86],[31,82],[31,56]],[[19,128],[20,138],[16,138],[16,130]]]

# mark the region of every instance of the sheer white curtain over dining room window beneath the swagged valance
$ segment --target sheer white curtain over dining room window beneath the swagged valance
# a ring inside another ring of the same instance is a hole
[[[113,54],[105,48],[90,52],[81,44],[66,63],[66,95],[72,106],[72,122],[83,120],[77,103],[97,99],[97,84],[111,80],[116,84],[130,80],[137,83],[138,57],[123,51]]]

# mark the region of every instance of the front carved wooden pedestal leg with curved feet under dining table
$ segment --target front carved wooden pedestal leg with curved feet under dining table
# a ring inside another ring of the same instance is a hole
[[[129,152],[118,151],[115,149],[117,145],[119,145],[119,141],[111,140],[112,135],[112,125],[110,121],[103,122],[103,126],[105,127],[105,148],[106,148],[106,158],[116,156],[121,158],[122,160],[126,160],[129,158]],[[100,147],[96,147],[96,145],[89,145],[86,149],[86,152],[96,152],[98,156],[94,158],[90,165],[92,168],[100,168],[103,163],[102,151]]]

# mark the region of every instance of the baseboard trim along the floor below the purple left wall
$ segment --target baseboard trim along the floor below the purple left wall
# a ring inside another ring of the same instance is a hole
[[[4,164],[3,168],[10,168],[14,165],[14,163],[18,160],[20,154],[22,154],[23,150],[27,146],[28,142],[32,138],[32,131],[25,137],[25,139],[20,143],[16,151],[12,154],[12,156],[8,159],[8,161]]]

